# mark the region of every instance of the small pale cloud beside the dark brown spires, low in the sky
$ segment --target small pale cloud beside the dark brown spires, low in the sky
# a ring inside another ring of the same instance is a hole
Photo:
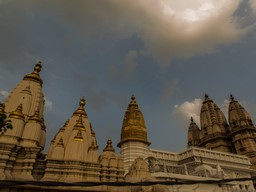
[[[190,118],[193,117],[194,121],[200,127],[200,109],[202,106],[202,99],[194,99],[193,101],[185,101],[180,105],[175,105],[173,115],[176,117],[179,124],[187,128]]]

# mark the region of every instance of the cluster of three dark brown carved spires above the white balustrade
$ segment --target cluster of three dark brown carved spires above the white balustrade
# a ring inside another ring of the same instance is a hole
[[[205,95],[199,128],[191,118],[188,147],[196,146],[249,157],[256,168],[256,127],[244,107],[230,96],[228,122],[220,108]]]

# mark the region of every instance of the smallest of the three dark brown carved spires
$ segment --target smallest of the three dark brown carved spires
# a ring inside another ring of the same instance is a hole
[[[196,147],[200,142],[200,129],[191,117],[191,122],[188,128],[188,144],[187,147]]]

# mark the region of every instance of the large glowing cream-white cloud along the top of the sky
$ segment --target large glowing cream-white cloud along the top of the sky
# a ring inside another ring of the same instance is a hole
[[[61,4],[53,3],[51,9],[84,37],[111,34],[123,38],[136,33],[156,60],[169,63],[173,57],[210,53],[218,45],[239,40],[248,31],[234,18],[241,2],[107,0],[74,4],[62,0]]]

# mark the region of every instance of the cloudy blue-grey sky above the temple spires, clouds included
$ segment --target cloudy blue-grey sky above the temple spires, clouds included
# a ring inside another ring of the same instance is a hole
[[[150,147],[180,152],[205,93],[256,123],[255,21],[256,0],[0,0],[0,101],[40,60],[46,152],[82,96],[116,146],[132,94]]]

